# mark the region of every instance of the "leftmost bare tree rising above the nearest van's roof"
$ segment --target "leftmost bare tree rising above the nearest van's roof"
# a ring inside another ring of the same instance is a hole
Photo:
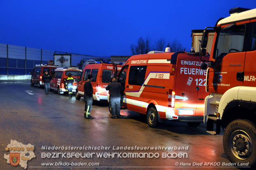
[[[145,40],[142,37],[140,37],[137,40],[137,45],[132,44],[130,46],[130,50],[132,54],[133,55],[147,54],[150,51],[150,40],[151,38],[149,38],[149,35],[147,35]]]

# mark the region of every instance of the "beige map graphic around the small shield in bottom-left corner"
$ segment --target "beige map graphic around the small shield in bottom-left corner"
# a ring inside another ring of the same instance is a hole
[[[22,144],[21,142],[17,142],[16,140],[11,140],[11,143],[7,145],[8,148],[24,148],[23,151],[19,150],[14,151],[14,150],[9,150],[9,154],[5,154],[4,158],[7,160],[7,163],[10,163],[10,155],[12,153],[19,153],[20,158],[19,158],[19,165],[21,165],[22,168],[26,169],[27,168],[27,162],[30,161],[32,158],[36,158],[36,155],[33,151],[29,149],[29,151],[26,150],[26,148],[34,148],[34,145],[31,144]]]

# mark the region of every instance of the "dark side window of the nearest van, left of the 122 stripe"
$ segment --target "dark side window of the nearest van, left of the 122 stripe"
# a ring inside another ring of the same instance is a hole
[[[147,66],[130,66],[129,85],[142,85],[144,82]]]

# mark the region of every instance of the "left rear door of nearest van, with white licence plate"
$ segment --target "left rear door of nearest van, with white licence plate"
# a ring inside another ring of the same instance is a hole
[[[199,58],[178,54],[175,71],[175,114],[196,116]]]

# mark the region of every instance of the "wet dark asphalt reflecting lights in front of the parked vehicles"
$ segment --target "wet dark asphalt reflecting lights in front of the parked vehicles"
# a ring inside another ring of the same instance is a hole
[[[30,90],[30,93],[26,92]],[[32,92],[31,92],[32,91]],[[150,128],[146,116],[133,111],[121,110],[123,119],[111,119],[108,104],[93,105],[93,120],[83,118],[83,97],[76,100],[68,95],[50,92],[45,95],[43,88],[31,87],[28,82],[0,82],[0,170],[23,169],[6,163],[3,158],[5,147],[11,139],[35,146],[36,158],[28,161],[28,170],[45,169],[115,169],[115,170],[158,170],[158,169],[199,169],[182,163],[219,162],[229,163],[222,146],[221,135],[206,133],[206,126],[188,127],[185,123],[171,122]],[[110,146],[108,150],[42,150],[42,146]],[[113,150],[118,146],[188,146],[187,150]],[[41,158],[43,152],[152,152],[159,158]],[[162,158],[162,153],[187,153],[188,158]],[[99,163],[94,167],[41,167],[43,162],[86,162]],[[178,167],[175,165],[178,163]],[[179,168],[179,167],[186,168]],[[210,165],[208,165],[210,166]],[[155,167],[155,168],[152,168]],[[167,168],[168,167],[168,168]]]

